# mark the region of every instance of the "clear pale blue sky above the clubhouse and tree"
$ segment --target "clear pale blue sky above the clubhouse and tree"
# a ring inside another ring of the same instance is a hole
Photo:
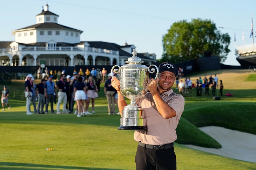
[[[227,65],[239,65],[234,34],[236,46],[243,45],[243,30],[245,44],[252,43],[251,12],[256,19],[256,0],[0,0],[0,41],[13,41],[13,30],[35,24],[46,3],[59,15],[59,24],[83,31],[81,41],[127,42],[157,58],[163,53],[162,36],[174,22],[210,19],[231,37]],[[256,20],[254,25],[255,36]]]

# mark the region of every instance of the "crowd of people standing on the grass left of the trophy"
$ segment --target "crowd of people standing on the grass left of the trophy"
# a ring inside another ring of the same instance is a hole
[[[107,74],[105,68],[99,73],[94,68],[92,71],[89,69],[84,73],[82,69],[78,72],[74,70],[73,76],[65,75],[65,71],[58,71],[61,74],[54,77],[52,75],[52,71],[48,73],[47,67],[45,68],[45,74],[42,73],[42,69],[39,67],[37,76],[41,79],[41,83],[35,84],[34,77],[32,74],[28,74],[25,80],[25,97],[26,97],[26,110],[27,115],[30,114],[48,114],[48,106],[50,104],[51,113],[55,114],[53,105],[56,104],[56,98],[58,98],[57,110],[56,114],[67,114],[74,112],[74,104],[76,102],[76,109],[74,114],[77,117],[86,116],[87,114],[94,114],[95,111],[95,98],[99,97],[98,91],[100,91],[100,83],[105,82],[107,77],[109,78],[105,83],[105,95],[108,101],[108,114],[120,114],[115,112],[115,97],[117,96],[117,92],[114,94],[110,94],[109,91],[111,89],[111,74]],[[53,72],[54,73],[54,72]],[[101,76],[100,76],[101,75]],[[54,79],[57,79],[56,83]],[[100,78],[100,81],[99,81]],[[110,83],[109,83],[110,82]],[[3,94],[3,93],[2,93]],[[8,93],[5,93],[7,97],[5,97],[5,101],[2,103],[6,103],[8,105]],[[114,104],[112,102],[114,96]],[[3,97],[2,97],[3,98]],[[38,104],[36,106],[36,98],[38,100]],[[7,101],[7,102],[6,102]],[[110,102],[111,101],[111,102]],[[115,102],[116,101],[116,102]],[[60,104],[63,102],[62,112],[60,111]],[[92,112],[88,111],[90,102],[92,104]],[[31,111],[30,105],[31,103],[34,106],[34,112]],[[2,104],[4,105],[4,104]],[[111,106],[110,106],[111,105]],[[11,108],[10,105],[8,105]],[[45,107],[45,111],[44,111]],[[3,107],[4,108],[4,107]],[[3,109],[4,110],[4,109]]]

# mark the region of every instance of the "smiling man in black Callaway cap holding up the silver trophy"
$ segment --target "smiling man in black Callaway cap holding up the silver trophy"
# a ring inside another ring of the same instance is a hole
[[[175,129],[184,110],[183,96],[171,89],[176,71],[171,62],[160,64],[158,79],[149,80],[146,86],[150,92],[138,100],[148,130],[134,132],[134,139],[138,142],[135,156],[137,170],[176,169],[173,142],[177,139]],[[127,103],[120,92],[120,82],[115,77],[112,86],[117,90],[118,108],[122,113]]]

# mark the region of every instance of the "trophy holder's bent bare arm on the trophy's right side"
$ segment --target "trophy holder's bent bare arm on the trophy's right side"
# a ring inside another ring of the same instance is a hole
[[[157,83],[158,81],[155,81],[155,79],[151,79],[151,81],[147,84],[147,89],[151,92],[151,95],[153,96],[157,110],[165,119],[175,117],[176,111],[163,101],[159,94],[159,91],[156,88]]]

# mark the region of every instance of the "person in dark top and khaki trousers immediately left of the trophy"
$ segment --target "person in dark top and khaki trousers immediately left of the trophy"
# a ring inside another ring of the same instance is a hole
[[[115,115],[115,94],[117,93],[117,91],[113,86],[111,86],[111,79],[112,76],[111,73],[109,73],[108,80],[105,82],[104,93],[108,101],[108,115]]]

